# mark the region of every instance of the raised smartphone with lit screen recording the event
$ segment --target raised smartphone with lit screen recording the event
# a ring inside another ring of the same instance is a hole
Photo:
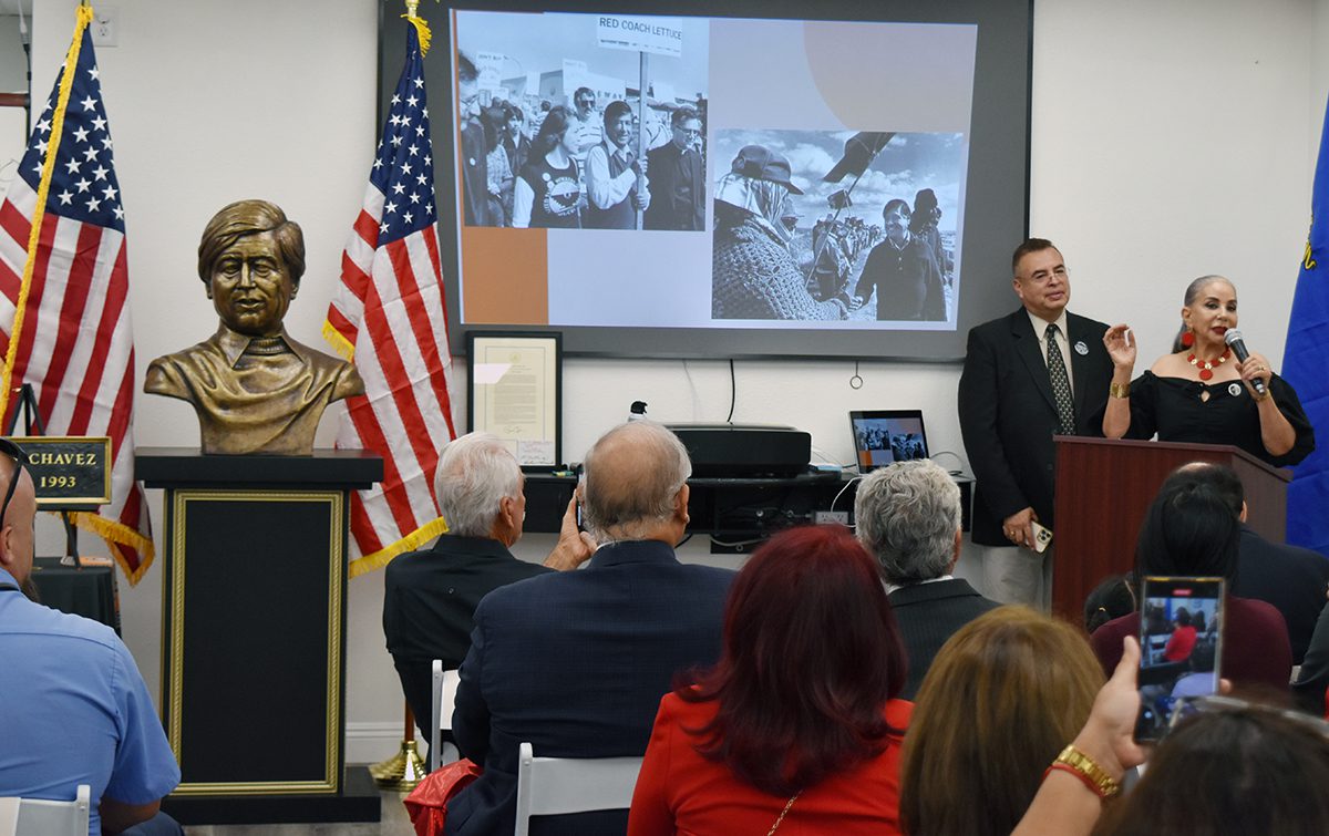
[[[1195,698],[1219,692],[1224,593],[1223,578],[1144,578],[1136,740],[1160,740]]]

